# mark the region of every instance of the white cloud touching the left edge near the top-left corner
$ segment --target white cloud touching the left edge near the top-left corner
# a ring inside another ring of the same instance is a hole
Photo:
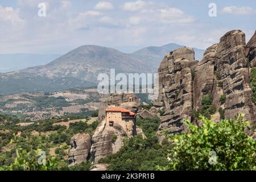
[[[18,12],[14,10],[13,7],[3,7],[0,5],[0,22],[1,21],[11,23],[23,22],[23,20],[19,18]]]

